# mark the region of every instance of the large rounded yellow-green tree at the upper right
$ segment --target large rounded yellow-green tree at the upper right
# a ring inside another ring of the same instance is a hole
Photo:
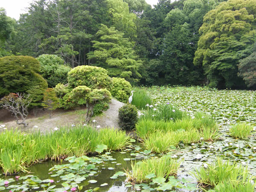
[[[255,16],[254,0],[228,0],[205,15],[194,64],[203,67],[210,87],[242,85],[237,65],[255,42]]]

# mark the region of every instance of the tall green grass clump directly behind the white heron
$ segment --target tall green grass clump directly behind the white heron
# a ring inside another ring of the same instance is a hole
[[[134,95],[132,98],[132,105],[135,105],[138,109],[146,109],[146,105],[152,105],[152,101],[147,91],[143,87],[133,87]]]

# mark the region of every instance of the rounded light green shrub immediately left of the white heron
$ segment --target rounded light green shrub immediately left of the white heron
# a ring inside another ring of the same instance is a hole
[[[111,95],[119,102],[126,103],[131,93],[131,84],[123,78],[112,78],[113,86],[110,88]]]

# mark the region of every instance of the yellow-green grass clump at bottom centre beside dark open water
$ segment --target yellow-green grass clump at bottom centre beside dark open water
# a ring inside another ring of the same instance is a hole
[[[135,183],[144,183],[150,182],[153,177],[167,178],[169,175],[177,175],[179,167],[180,163],[177,160],[169,156],[163,156],[131,164],[131,172],[126,171],[126,174],[128,180]]]

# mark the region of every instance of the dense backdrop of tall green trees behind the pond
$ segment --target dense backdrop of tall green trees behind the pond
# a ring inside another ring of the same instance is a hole
[[[243,59],[254,58],[255,10],[254,0],[33,0],[17,22],[0,10],[0,57],[58,55],[133,84],[253,88]]]

